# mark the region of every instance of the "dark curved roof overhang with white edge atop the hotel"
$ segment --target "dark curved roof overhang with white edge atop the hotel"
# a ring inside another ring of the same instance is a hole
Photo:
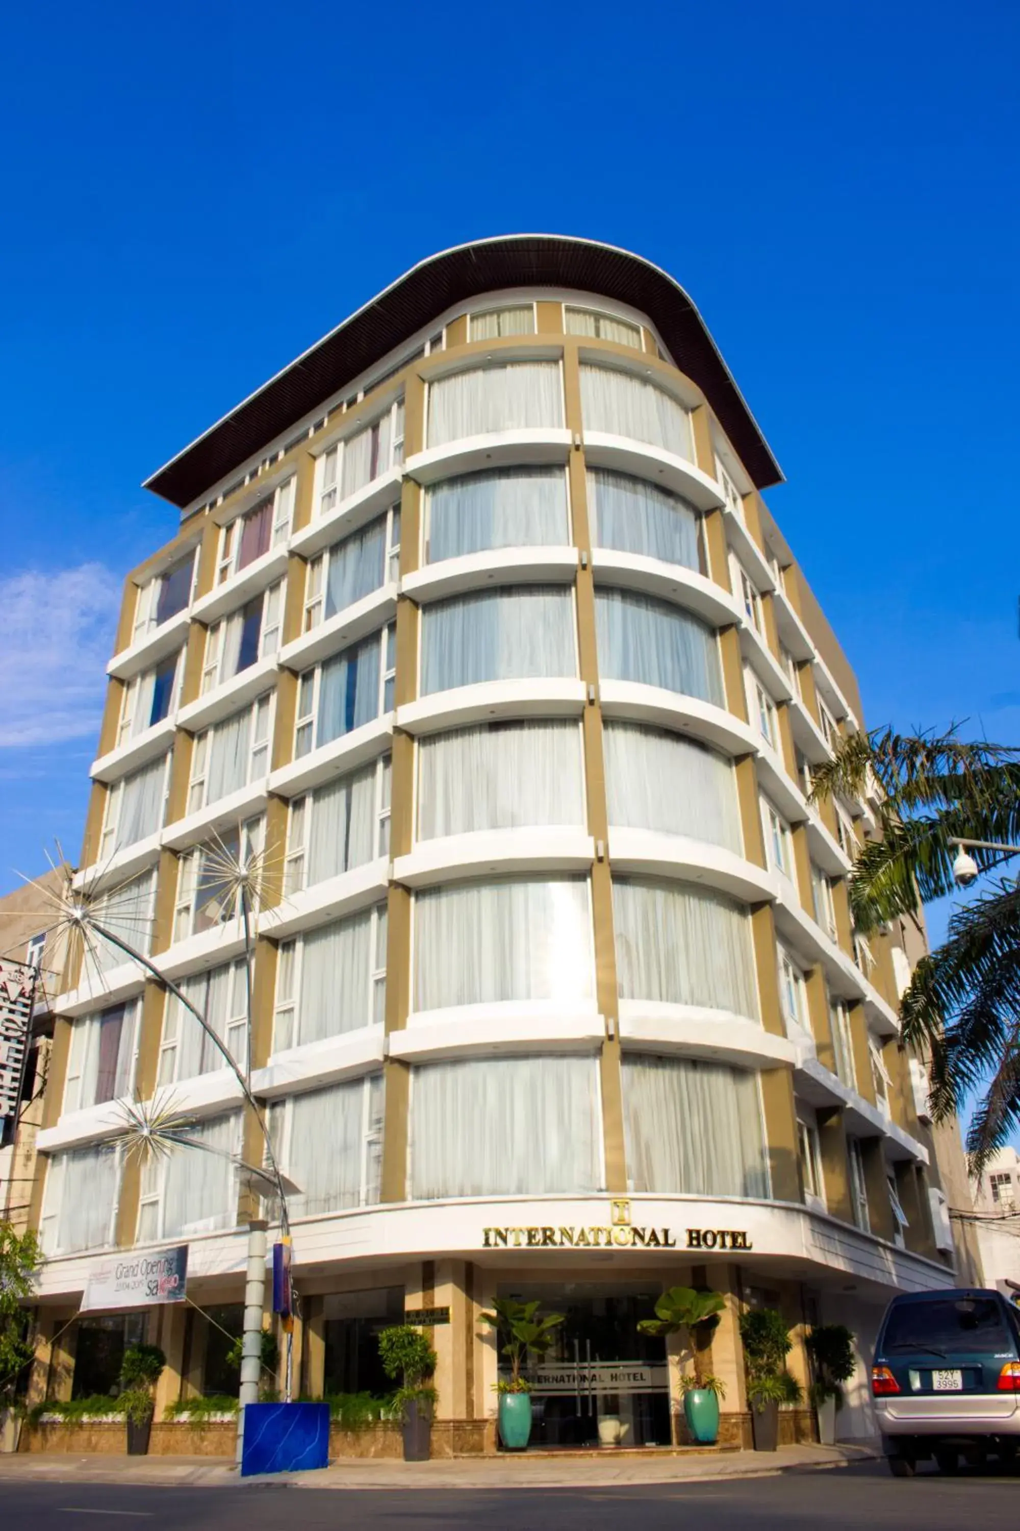
[[[781,481],[700,314],[673,277],[641,256],[596,240],[508,234],[457,245],[411,266],[171,458],[144,487],[184,510],[447,309],[517,286],[596,292],[641,309],[681,372],[710,400],[755,485],[768,488]]]

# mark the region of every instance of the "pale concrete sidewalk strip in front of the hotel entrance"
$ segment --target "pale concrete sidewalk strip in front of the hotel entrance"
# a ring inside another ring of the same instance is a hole
[[[619,1458],[459,1458],[443,1462],[373,1462],[344,1458],[315,1473],[239,1477],[232,1464],[208,1456],[64,1456],[57,1451],[0,1456],[0,1488],[8,1482],[141,1484],[174,1488],[630,1488],[647,1484],[765,1477],[866,1462],[867,1445],[791,1445],[774,1453]]]

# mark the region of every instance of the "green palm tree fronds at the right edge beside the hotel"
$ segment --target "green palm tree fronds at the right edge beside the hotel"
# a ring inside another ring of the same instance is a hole
[[[850,912],[861,934],[911,919],[953,891],[956,841],[1015,844],[1020,836],[1020,750],[947,735],[890,729],[846,738],[815,772],[812,801],[844,793],[875,804],[878,834],[850,876]],[[1003,854],[974,847],[980,873]],[[918,963],[901,1000],[902,1036],[928,1058],[934,1121],[977,1107],[966,1136],[979,1173],[1020,1125],[1020,888],[988,877],[957,909],[947,940]]]

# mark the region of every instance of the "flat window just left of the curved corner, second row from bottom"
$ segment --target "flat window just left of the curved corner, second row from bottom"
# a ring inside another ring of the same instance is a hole
[[[382,1026],[385,903],[281,942],[274,1052]]]

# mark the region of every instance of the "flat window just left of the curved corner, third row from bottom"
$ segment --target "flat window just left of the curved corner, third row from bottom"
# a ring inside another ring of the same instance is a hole
[[[390,850],[390,756],[291,804],[284,896],[385,856]]]

